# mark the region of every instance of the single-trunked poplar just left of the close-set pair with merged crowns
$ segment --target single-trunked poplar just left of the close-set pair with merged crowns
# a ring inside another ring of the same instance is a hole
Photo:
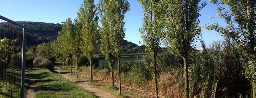
[[[99,42],[99,32],[97,31],[99,18],[97,16],[96,10],[97,9],[94,5],[94,0],[84,0],[84,3],[79,8],[79,12],[77,12],[79,22],[82,24],[82,50],[90,61],[91,83],[93,81],[93,53],[94,50],[97,48],[97,44]]]

